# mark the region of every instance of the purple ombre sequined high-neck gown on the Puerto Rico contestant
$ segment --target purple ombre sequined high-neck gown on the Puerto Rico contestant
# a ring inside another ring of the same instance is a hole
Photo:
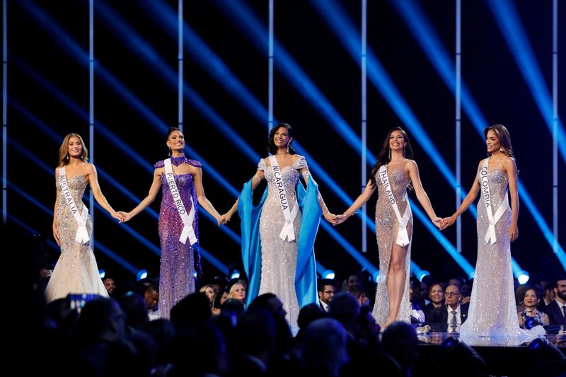
[[[190,160],[182,157],[172,157],[171,163],[179,166],[188,163],[196,168],[201,168],[199,161]],[[155,164],[156,168],[163,168],[163,161]],[[183,199],[185,209],[190,211],[192,208],[189,195],[192,196],[192,203],[197,205],[197,193],[195,184],[192,181],[192,174],[176,174],[175,182]],[[195,291],[195,258],[190,240],[187,239],[185,245],[179,241],[181,231],[183,231],[183,220],[173,204],[173,197],[167,185],[165,174],[161,175],[161,210],[159,211],[159,240],[161,241],[161,272],[159,274],[159,316],[169,318],[171,308],[178,301],[192,294]],[[195,233],[199,235],[198,228],[198,209],[195,208],[195,220],[192,221]],[[197,265],[200,266],[200,254],[197,253]]]

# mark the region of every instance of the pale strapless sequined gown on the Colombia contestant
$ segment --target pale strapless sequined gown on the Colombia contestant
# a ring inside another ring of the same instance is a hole
[[[480,182],[480,170],[477,179]],[[502,166],[493,167],[487,172],[492,201],[492,213],[507,196],[509,182]],[[480,186],[481,187],[481,186]],[[489,219],[482,198],[478,201],[478,260],[475,265],[475,279],[470,298],[468,320],[461,325],[460,337],[468,344],[516,345],[524,340],[526,330],[519,328],[513,272],[509,226],[511,208],[495,224],[493,245],[485,242]]]

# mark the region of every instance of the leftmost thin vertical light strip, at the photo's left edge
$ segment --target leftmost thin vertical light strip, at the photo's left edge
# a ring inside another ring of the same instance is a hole
[[[7,0],[2,1],[2,224],[8,221],[8,15]]]

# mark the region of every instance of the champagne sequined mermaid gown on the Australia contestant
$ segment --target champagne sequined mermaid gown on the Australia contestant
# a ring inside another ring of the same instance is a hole
[[[76,175],[67,180],[69,190],[79,211],[83,211],[83,194],[88,182],[83,175]],[[59,180],[55,181],[57,192],[61,192]],[[49,283],[45,288],[47,302],[57,298],[67,297],[68,294],[99,294],[108,297],[102,280],[98,275],[98,265],[91,250],[91,241],[86,244],[76,242],[76,229],[78,228],[69,205],[62,195],[57,203],[57,232],[61,240],[61,255],[53,269]],[[91,215],[86,222],[88,236],[92,240]]]

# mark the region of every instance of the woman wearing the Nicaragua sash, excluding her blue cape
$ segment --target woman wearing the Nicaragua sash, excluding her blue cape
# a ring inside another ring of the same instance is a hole
[[[287,123],[278,124],[270,133],[268,146],[270,152],[277,158],[277,164],[282,173],[282,181],[287,192],[289,210],[296,204],[296,185],[299,175],[303,175],[305,182],[310,175],[304,156],[294,154],[291,141],[293,141],[291,126]],[[276,187],[275,176],[268,158],[262,158],[258,163],[258,171],[253,176],[252,187],[258,187],[265,178],[267,180],[267,198],[263,204],[260,217],[261,241],[261,281],[259,294],[276,294],[287,311],[287,320],[291,327],[296,327],[299,316],[299,303],[295,290],[295,272],[297,262],[297,245],[299,244],[299,228],[301,227],[301,211],[296,215],[293,229],[296,239],[287,242],[279,238],[285,224],[285,218],[279,205],[279,192]],[[300,183],[299,183],[300,184]],[[318,202],[323,209],[323,216],[328,221],[333,219],[326,208],[322,196],[318,193]],[[227,219],[238,209],[238,201],[225,215]]]

